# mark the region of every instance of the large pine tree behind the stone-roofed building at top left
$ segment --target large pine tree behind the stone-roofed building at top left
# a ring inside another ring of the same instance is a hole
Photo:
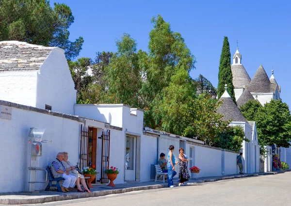
[[[30,44],[60,47],[67,59],[78,56],[82,37],[69,41],[68,28],[74,22],[71,9],[49,0],[0,0],[0,41],[17,40]]]

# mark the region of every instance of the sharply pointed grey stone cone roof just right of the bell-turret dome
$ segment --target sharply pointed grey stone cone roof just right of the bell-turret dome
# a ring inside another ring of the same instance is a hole
[[[268,78],[268,75],[262,66],[262,64],[259,66],[257,72],[255,73],[253,79],[247,86],[247,89],[250,92],[261,92],[261,93],[271,93],[271,81]]]

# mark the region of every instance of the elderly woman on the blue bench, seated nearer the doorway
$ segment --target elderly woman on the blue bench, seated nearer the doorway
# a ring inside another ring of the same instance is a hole
[[[81,182],[84,190],[86,192],[90,192],[90,190],[87,188],[87,185],[86,185],[86,182],[84,179],[84,175],[80,174],[78,172],[78,170],[76,170],[75,167],[73,167],[72,164],[68,161],[68,153],[67,152],[64,152],[63,164],[65,166],[65,171],[68,172],[69,174],[74,175],[77,178],[76,185],[77,185],[78,192],[83,192],[83,190],[81,189],[81,186],[80,186],[80,182]]]

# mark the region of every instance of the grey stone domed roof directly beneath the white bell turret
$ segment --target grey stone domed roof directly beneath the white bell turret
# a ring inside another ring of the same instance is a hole
[[[242,64],[232,64],[231,73],[234,88],[245,88],[251,82],[251,78]]]

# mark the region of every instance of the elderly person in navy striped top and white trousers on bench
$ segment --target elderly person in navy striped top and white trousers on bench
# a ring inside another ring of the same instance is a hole
[[[76,176],[69,174],[65,171],[65,166],[62,161],[64,160],[64,153],[59,152],[55,161],[51,163],[51,172],[54,178],[63,177],[65,179],[61,190],[62,192],[69,192],[68,187],[73,188],[76,182]]]

